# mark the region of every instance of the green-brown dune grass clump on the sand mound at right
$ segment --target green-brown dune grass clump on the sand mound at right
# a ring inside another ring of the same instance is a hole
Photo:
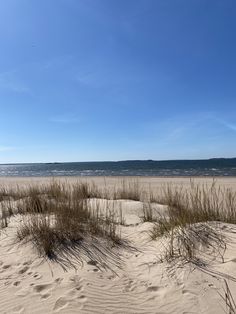
[[[197,255],[206,247],[223,254],[225,239],[219,222],[236,223],[236,193],[216,187],[215,181],[211,186],[192,181],[189,189],[166,185],[160,201],[168,210],[155,222],[151,237],[166,237],[165,259],[182,257],[201,264],[204,261]]]

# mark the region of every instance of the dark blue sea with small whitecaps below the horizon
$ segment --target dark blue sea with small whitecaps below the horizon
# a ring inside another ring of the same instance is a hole
[[[236,176],[236,158],[5,164],[0,176]]]

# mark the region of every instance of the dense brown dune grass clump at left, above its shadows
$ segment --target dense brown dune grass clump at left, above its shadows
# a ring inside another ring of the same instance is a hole
[[[5,191],[4,191],[5,192]],[[117,216],[112,209],[90,206],[92,190],[88,184],[64,184],[52,181],[49,185],[33,186],[17,191],[20,201],[17,211],[23,222],[17,231],[20,241],[32,241],[40,255],[50,258],[65,247],[78,244],[87,235],[119,242]],[[16,195],[16,191],[14,192]],[[6,192],[10,195],[9,191]],[[13,209],[2,205],[2,227],[7,226]]]

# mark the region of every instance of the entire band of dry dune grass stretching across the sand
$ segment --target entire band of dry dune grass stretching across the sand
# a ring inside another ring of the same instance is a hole
[[[143,203],[143,221],[153,222],[152,239],[165,239],[167,260],[183,257],[197,262],[197,253],[203,247],[223,251],[225,239],[217,222],[236,223],[236,193],[230,189],[197,185],[191,181],[190,188],[163,186],[154,194],[143,191],[136,180],[122,180],[113,190],[99,189],[94,183],[62,183],[52,180],[50,184],[30,186],[23,189],[0,189],[2,227],[8,225],[13,213],[24,216],[18,229],[18,239],[31,240],[40,254],[52,256],[62,245],[78,242],[86,235],[96,235],[119,241],[118,224],[123,223],[122,211],[114,208],[91,207],[89,199],[131,199],[149,201]],[[147,198],[146,198],[147,199]],[[19,200],[12,208],[12,200]],[[154,215],[152,202],[167,205],[167,212]]]

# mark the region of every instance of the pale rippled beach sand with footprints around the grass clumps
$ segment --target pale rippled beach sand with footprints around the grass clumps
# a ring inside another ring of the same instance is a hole
[[[1,178],[0,184],[25,185],[42,180]],[[83,180],[104,184],[104,178]],[[143,187],[151,184],[155,189],[163,181],[189,184],[183,178],[139,181]],[[107,186],[114,184],[117,178],[106,178]],[[236,178],[222,178],[218,184],[236,189]],[[152,224],[140,219],[142,204],[125,200],[115,204],[123,209],[125,226],[121,226],[121,235],[129,246],[113,248],[105,255],[95,252],[92,260],[84,254],[83,264],[71,260],[75,268],[66,266],[64,259],[45,261],[31,244],[16,243],[21,217],[12,217],[9,226],[0,231],[0,313],[224,313],[225,304],[219,295],[224,278],[236,298],[236,228],[228,225],[227,231],[222,231],[229,238],[224,261],[221,256],[209,256],[209,264],[203,269],[168,264],[160,261],[161,241],[150,240]],[[161,205],[156,208],[165,210]],[[96,258],[100,262],[96,263]],[[101,263],[106,269],[99,267]]]

